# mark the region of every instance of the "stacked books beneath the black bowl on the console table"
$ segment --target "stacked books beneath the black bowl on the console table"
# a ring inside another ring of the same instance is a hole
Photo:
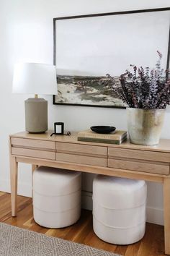
[[[127,139],[127,131],[116,130],[109,134],[101,134],[97,132],[92,132],[91,129],[88,129],[83,132],[78,133],[77,139],[79,141],[85,142],[99,142],[99,143],[109,143],[120,145],[123,141]]]

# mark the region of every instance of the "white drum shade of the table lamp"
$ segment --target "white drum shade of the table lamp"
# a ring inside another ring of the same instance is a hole
[[[55,66],[40,63],[16,64],[12,93],[57,95]]]

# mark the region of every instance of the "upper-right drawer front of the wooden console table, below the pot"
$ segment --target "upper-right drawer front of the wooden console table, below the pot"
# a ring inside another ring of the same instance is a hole
[[[133,158],[157,162],[170,162],[170,153],[150,150],[131,150],[123,148],[108,148],[108,155],[114,158]]]

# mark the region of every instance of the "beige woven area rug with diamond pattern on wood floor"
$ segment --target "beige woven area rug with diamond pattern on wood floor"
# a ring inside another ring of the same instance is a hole
[[[1,256],[120,256],[0,223]]]

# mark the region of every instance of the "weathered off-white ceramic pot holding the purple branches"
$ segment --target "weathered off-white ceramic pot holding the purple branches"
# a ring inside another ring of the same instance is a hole
[[[165,109],[127,108],[130,142],[138,145],[156,145],[164,123]]]

